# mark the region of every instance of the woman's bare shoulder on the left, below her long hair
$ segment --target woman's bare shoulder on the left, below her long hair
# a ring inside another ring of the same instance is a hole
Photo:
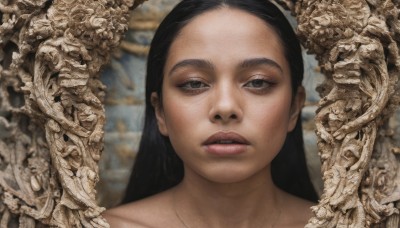
[[[160,193],[133,203],[124,204],[103,213],[111,228],[134,227],[156,228],[165,227],[173,218],[171,214],[171,198],[168,192]]]

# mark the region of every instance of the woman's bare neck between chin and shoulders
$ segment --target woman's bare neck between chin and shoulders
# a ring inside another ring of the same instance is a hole
[[[269,167],[236,183],[215,183],[185,169],[174,189],[175,209],[184,226],[271,227],[279,219],[278,191]]]

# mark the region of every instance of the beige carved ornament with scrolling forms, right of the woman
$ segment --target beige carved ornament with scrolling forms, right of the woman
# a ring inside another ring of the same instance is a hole
[[[325,82],[316,113],[324,191],[306,227],[400,227],[400,2],[300,0],[287,4]]]

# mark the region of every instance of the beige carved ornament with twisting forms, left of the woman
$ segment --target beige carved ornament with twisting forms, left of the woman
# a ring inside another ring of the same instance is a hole
[[[108,227],[98,76],[141,2],[0,0],[0,227]]]

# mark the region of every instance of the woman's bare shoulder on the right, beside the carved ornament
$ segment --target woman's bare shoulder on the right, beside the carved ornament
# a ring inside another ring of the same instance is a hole
[[[282,192],[284,206],[282,208],[283,227],[304,227],[312,217],[311,207],[316,203]]]

